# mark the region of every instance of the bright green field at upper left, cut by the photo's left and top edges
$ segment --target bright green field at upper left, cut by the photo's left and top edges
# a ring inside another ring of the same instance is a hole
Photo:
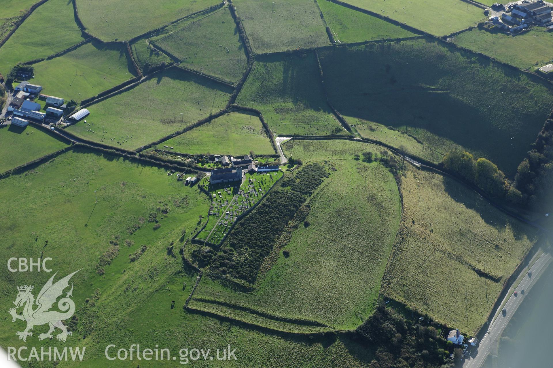
[[[46,34],[48,39],[45,39]],[[5,76],[18,62],[55,54],[82,40],[72,3],[49,0],[36,8],[0,48],[0,73]]]

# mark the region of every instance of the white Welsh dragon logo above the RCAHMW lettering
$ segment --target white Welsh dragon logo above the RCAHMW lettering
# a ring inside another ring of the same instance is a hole
[[[34,299],[34,295],[32,294],[34,286],[25,285],[17,287],[19,294],[13,302],[15,304],[15,308],[11,308],[9,310],[9,314],[12,315],[12,322],[15,322],[16,319],[27,321],[27,328],[25,328],[23,332],[15,333],[19,336],[19,340],[27,341],[28,336],[33,336],[33,333],[29,331],[32,330],[34,326],[40,326],[48,323],[50,329],[48,332],[38,335],[38,339],[44,340],[47,338],[53,338],[54,335],[52,335],[52,333],[54,332],[54,329],[58,327],[61,329],[61,333],[56,335],[56,338],[62,342],[65,342],[67,335],[70,335],[71,332],[67,331],[67,327],[61,323],[61,321],[71,318],[75,312],[75,303],[69,298],[72,296],[73,284],[71,284],[71,290],[69,290],[65,297],[61,298],[58,302],[58,308],[62,312],[50,311],[50,308],[56,302],[56,299],[63,294],[64,289],[69,286],[69,279],[71,279],[71,276],[75,275],[79,271],[80,270],[65,276],[65,278],[54,284],[54,277],[58,274],[56,272],[54,276],[52,276],[42,287],[36,297],[36,301]],[[37,307],[33,309],[35,304]],[[20,316],[17,314],[16,308],[23,305],[25,305],[23,307],[23,314]]]

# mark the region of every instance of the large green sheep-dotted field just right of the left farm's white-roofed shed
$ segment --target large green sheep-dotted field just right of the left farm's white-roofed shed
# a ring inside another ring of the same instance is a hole
[[[69,130],[95,142],[138,148],[221,110],[231,92],[207,78],[171,69],[88,106],[87,123]]]

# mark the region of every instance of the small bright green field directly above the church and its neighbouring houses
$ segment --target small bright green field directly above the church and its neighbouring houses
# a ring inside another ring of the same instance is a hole
[[[182,153],[274,154],[256,115],[230,113],[162,143]]]

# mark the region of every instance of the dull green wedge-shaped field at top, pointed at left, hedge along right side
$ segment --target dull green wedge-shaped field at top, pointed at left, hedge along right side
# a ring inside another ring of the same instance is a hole
[[[230,10],[223,8],[182,27],[155,45],[194,70],[236,82],[246,69],[246,53]]]

